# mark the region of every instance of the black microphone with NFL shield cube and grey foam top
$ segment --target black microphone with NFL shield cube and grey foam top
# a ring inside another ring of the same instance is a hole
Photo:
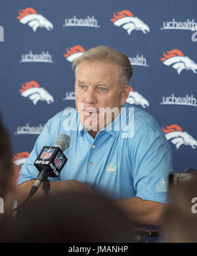
[[[32,197],[39,186],[47,177],[58,177],[68,159],[64,156],[64,151],[70,144],[70,137],[61,134],[55,140],[54,146],[44,146],[41,153],[34,162],[39,171],[36,181],[33,183],[29,197]]]

